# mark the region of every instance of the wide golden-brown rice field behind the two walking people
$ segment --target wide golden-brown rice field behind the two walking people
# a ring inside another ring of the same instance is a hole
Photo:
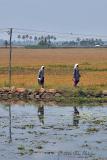
[[[45,87],[71,89],[73,65],[79,64],[79,86],[107,89],[107,48],[12,49],[12,85],[38,88],[45,65]],[[0,48],[0,86],[8,85],[9,49]]]

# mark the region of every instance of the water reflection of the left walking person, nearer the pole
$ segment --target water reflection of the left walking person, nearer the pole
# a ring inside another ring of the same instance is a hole
[[[44,125],[44,104],[40,102],[38,106],[38,118],[42,125]]]

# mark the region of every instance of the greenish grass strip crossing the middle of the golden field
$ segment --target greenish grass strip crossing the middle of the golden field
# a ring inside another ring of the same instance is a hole
[[[105,64],[106,65],[106,64]],[[34,67],[23,67],[23,66],[13,66],[11,67],[11,70],[12,72],[20,72],[20,73],[26,73],[26,72],[34,72],[34,71],[38,71],[39,69],[39,65]],[[61,64],[57,64],[57,65],[45,65],[46,67],[46,72],[49,73],[49,72],[53,72],[54,73],[57,73],[57,74],[60,74],[60,73],[69,73],[71,72],[73,69],[73,65],[61,65]],[[98,68],[98,67],[95,67],[95,66],[84,66],[84,64],[81,64],[81,69],[80,69],[81,72],[87,72],[87,71],[98,71],[98,72],[102,72],[102,71],[107,71],[107,67],[103,67],[103,68]],[[0,74],[1,73],[7,73],[8,72],[8,67],[3,67],[3,66],[0,66]]]

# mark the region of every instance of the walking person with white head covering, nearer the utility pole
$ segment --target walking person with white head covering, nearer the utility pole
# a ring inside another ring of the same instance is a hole
[[[41,86],[41,88],[44,88],[44,74],[45,74],[44,69],[45,67],[41,66],[38,72],[38,84]]]

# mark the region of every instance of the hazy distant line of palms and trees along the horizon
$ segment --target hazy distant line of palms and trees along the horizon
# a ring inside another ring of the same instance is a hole
[[[77,38],[76,40],[62,40],[58,41],[53,35],[47,36],[31,36],[31,35],[17,35],[17,39],[12,41],[13,45],[24,46],[27,48],[52,48],[52,47],[98,47],[104,46],[102,39],[94,38]],[[8,40],[4,40],[4,46],[7,48]]]

